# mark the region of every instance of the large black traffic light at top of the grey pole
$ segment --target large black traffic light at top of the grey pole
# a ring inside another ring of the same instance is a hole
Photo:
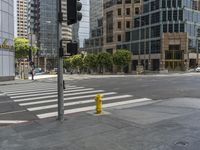
[[[80,12],[82,3],[80,0],[67,0],[67,24],[72,25],[81,21],[82,13]]]

